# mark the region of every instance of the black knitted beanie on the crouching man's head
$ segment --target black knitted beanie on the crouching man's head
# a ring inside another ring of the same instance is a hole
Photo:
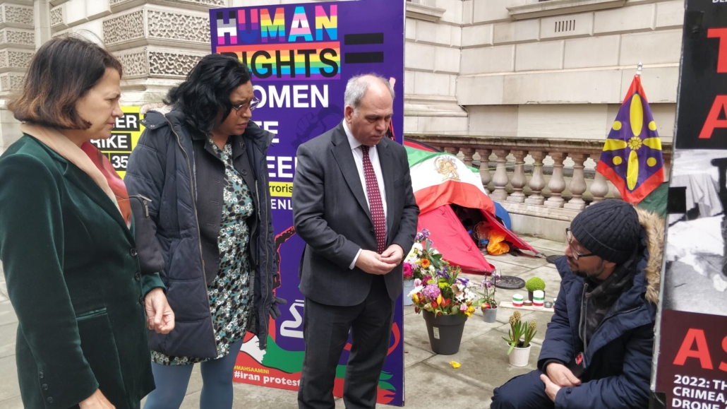
[[[591,204],[571,222],[573,237],[586,250],[616,264],[631,257],[640,231],[636,210],[621,200]]]

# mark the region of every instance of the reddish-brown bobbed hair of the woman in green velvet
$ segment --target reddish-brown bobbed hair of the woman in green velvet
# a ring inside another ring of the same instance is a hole
[[[33,56],[8,109],[18,121],[86,130],[91,124],[76,113],[76,101],[101,81],[107,68],[122,74],[119,60],[92,41],[80,36],[51,39]]]

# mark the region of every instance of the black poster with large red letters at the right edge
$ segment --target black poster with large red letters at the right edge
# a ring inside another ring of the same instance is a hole
[[[727,1],[687,0],[655,407],[727,409],[726,111]]]

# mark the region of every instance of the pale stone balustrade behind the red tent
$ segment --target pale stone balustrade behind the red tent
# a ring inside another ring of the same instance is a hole
[[[563,229],[585,207],[618,189],[595,167],[603,140],[547,140],[472,136],[406,135],[455,154],[478,167],[491,199],[510,213],[519,234],[563,241]],[[662,142],[664,174],[671,166],[670,142]]]

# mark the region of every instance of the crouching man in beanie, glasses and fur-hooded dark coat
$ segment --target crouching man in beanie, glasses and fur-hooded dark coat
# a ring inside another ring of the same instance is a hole
[[[538,369],[496,388],[490,408],[647,408],[664,222],[607,200],[566,238]]]

